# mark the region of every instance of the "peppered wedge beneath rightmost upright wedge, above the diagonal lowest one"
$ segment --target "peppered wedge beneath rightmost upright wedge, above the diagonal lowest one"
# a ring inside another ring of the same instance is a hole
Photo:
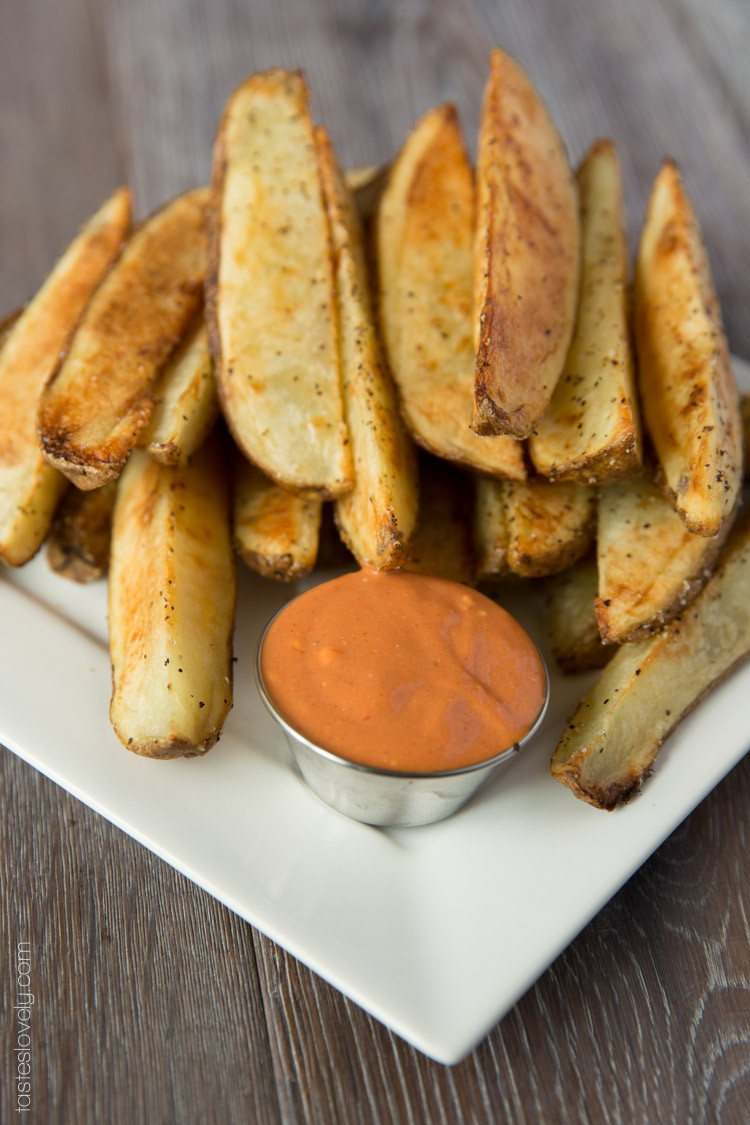
[[[596,618],[605,641],[636,640],[688,605],[711,575],[729,522],[695,536],[650,479],[599,493]]]

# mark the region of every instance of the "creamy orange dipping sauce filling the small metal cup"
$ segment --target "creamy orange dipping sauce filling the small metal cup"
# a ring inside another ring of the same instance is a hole
[[[484,594],[377,570],[290,602],[265,634],[261,675],[309,741],[404,773],[460,770],[515,745],[546,683],[526,631]]]

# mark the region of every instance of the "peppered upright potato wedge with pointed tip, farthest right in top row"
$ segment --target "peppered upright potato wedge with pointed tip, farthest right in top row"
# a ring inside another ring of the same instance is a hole
[[[698,223],[672,161],[659,172],[635,269],[635,343],[647,430],[685,525],[715,536],[742,478],[742,421]]]

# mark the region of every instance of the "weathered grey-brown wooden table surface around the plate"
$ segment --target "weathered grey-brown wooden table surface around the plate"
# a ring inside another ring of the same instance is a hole
[[[618,142],[631,236],[662,154],[680,162],[730,344],[750,357],[748,12],[742,0],[4,0],[0,309],[33,294],[119,182],[145,214],[205,180],[222,104],[250,71],[302,66],[356,164],[389,158],[448,98],[473,138],[499,43],[573,160],[597,135]],[[0,962],[9,982],[30,935],[34,1120],[750,1120],[748,758],[452,1069],[10,753],[0,770]],[[3,1001],[8,1044],[9,1020]],[[16,1119],[1,1084],[0,1118]]]

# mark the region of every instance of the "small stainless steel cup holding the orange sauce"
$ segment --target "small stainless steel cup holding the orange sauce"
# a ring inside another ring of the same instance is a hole
[[[282,612],[281,610],[279,612]],[[550,699],[550,677],[544,668],[544,702],[533,726],[514,746],[493,758],[461,770],[440,773],[398,773],[360,765],[316,746],[300,735],[277,709],[263,684],[261,658],[263,641],[274,614],[263,630],[255,650],[255,683],[263,703],[283,730],[289,749],[302,778],[325,804],[353,820],[389,828],[416,828],[443,820],[458,812],[495,771],[531,741],[542,724]],[[353,732],[353,738],[356,737]]]

